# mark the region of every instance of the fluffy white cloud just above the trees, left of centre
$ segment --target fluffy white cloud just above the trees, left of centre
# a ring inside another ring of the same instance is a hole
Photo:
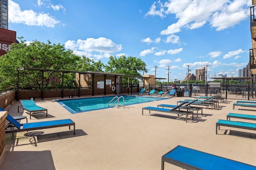
[[[94,57],[96,59],[108,58],[110,53],[122,50],[122,45],[116,45],[111,39],[100,37],[98,39],[88,38],[77,41],[68,40],[64,44],[65,48],[72,50],[76,55]]]

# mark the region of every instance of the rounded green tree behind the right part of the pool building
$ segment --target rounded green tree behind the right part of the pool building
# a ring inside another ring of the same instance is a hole
[[[120,73],[129,76],[142,76],[140,72],[148,72],[146,64],[136,57],[110,56],[108,63],[105,65],[105,72]],[[123,84],[128,83],[128,77],[123,77]],[[130,78],[130,83],[137,82],[136,78]]]

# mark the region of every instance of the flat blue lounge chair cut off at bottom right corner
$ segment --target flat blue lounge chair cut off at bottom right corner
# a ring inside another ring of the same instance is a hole
[[[256,170],[256,166],[178,145],[162,156],[164,162],[189,170]]]

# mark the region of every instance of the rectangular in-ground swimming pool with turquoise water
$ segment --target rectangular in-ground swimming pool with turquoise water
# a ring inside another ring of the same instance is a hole
[[[124,107],[132,104],[140,104],[145,102],[152,102],[157,100],[165,100],[168,98],[159,97],[145,97],[145,96],[126,96],[124,97]],[[104,96],[104,97],[91,97],[91,98],[74,98],[74,99],[61,99],[56,100],[61,106],[67,109],[70,113],[81,113],[85,111],[106,109],[114,106],[108,107],[108,102],[112,100],[115,96]],[[120,96],[118,96],[120,97]],[[123,104],[123,99],[120,98],[119,104]],[[113,104],[114,102],[111,102]],[[119,106],[120,107],[120,106]]]

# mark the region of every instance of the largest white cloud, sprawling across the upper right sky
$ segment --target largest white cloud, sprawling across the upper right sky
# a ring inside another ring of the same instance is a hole
[[[178,33],[182,28],[196,29],[207,22],[220,31],[245,20],[250,6],[248,0],[168,0],[164,5],[154,2],[145,16],[176,16],[178,21],[162,30],[162,35]]]

